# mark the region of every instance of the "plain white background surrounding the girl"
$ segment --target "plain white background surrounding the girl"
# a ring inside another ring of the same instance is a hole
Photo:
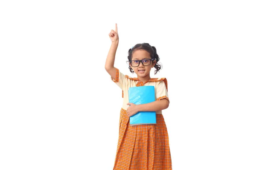
[[[105,71],[157,48],[173,170],[256,170],[253,0],[0,2],[0,170],[111,170],[122,91]]]

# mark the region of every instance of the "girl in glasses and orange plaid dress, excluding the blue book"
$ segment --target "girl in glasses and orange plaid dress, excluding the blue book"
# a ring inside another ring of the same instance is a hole
[[[128,51],[128,62],[132,78],[122,74],[114,67],[116,49],[119,43],[117,25],[111,30],[112,41],[105,63],[105,69],[111,79],[122,89],[123,105],[120,111],[119,139],[113,170],[172,170],[169,137],[162,110],[168,108],[166,78],[150,78],[151,68],[156,74],[161,66],[154,46],[148,43],[137,44]],[[128,102],[128,88],[154,85],[156,101],[135,105]],[[139,111],[156,111],[157,124],[131,126],[129,117]]]

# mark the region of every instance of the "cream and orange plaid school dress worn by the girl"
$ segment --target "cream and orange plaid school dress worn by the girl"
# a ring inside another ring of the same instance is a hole
[[[116,77],[111,79],[122,89],[123,97],[113,170],[172,170],[169,137],[162,111],[157,111],[156,125],[131,126],[126,113],[129,87],[154,85],[156,99],[169,101],[166,78],[152,78],[143,84],[116,68]]]

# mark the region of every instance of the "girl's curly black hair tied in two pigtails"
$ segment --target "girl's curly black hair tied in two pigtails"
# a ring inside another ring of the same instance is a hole
[[[136,50],[145,50],[148,51],[150,54],[151,59],[155,59],[156,64],[154,65],[154,68],[156,69],[154,71],[154,74],[157,74],[157,72],[162,68],[162,65],[158,63],[160,60],[159,56],[157,55],[157,49],[154,46],[149,45],[148,43],[142,43],[142,44],[136,44],[133,48],[130,48],[128,51],[128,61],[131,61],[132,54]],[[134,73],[133,69],[129,65],[129,69],[131,73]]]

